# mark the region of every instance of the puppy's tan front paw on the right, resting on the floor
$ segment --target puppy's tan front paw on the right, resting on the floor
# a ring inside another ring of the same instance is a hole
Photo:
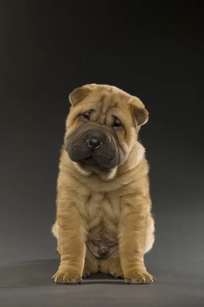
[[[156,281],[152,275],[150,275],[147,271],[144,272],[137,272],[133,270],[125,275],[125,282],[126,283],[152,283]]]

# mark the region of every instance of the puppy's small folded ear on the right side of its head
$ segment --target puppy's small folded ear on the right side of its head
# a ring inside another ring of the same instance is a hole
[[[137,126],[142,126],[146,124],[149,119],[149,112],[145,108],[145,105],[137,97],[133,98],[131,104],[133,106],[133,113],[137,122]]]

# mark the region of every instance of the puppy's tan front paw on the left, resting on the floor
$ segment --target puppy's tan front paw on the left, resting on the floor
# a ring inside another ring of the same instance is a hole
[[[76,270],[58,270],[51,280],[56,283],[80,283],[82,277]]]

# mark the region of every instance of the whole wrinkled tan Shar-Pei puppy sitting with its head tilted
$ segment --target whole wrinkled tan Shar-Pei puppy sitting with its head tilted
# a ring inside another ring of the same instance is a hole
[[[144,264],[154,243],[149,165],[137,141],[149,113],[109,85],[84,85],[69,100],[52,227],[60,265],[51,280],[78,283],[101,272],[151,283]]]

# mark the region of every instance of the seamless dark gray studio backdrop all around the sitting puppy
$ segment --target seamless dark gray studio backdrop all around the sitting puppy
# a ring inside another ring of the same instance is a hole
[[[201,306],[203,302],[203,8],[197,1],[0,1],[3,305]],[[157,282],[97,275],[50,282],[50,227],[68,96],[107,83],[138,96],[151,165]]]

